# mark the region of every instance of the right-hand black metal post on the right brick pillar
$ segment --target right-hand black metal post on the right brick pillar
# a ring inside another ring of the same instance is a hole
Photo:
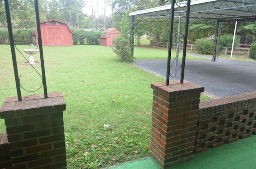
[[[189,24],[189,14],[190,14],[190,2],[191,2],[191,0],[187,0],[186,24],[185,24],[185,35],[184,35],[184,46],[183,46],[182,70],[181,70],[180,83],[183,83],[183,81],[184,81],[187,39],[188,39],[188,24]]]

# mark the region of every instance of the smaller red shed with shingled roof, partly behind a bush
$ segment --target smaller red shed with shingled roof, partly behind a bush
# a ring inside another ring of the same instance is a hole
[[[108,28],[106,31],[102,32],[100,36],[100,45],[102,46],[113,46],[113,39],[121,33],[117,28]]]

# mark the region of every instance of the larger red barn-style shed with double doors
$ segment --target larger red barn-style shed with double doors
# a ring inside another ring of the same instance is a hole
[[[48,20],[40,22],[43,46],[73,46],[72,30],[65,22]],[[38,32],[36,29],[36,36]]]

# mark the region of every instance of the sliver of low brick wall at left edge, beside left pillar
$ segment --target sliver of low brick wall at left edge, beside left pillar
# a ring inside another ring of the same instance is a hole
[[[12,169],[12,161],[6,133],[0,134],[0,169]]]

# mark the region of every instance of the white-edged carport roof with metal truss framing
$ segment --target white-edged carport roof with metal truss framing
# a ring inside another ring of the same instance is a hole
[[[171,5],[131,12],[135,20],[170,18]],[[174,6],[174,18],[186,17],[186,1]],[[190,20],[256,20],[256,0],[191,0]]]

